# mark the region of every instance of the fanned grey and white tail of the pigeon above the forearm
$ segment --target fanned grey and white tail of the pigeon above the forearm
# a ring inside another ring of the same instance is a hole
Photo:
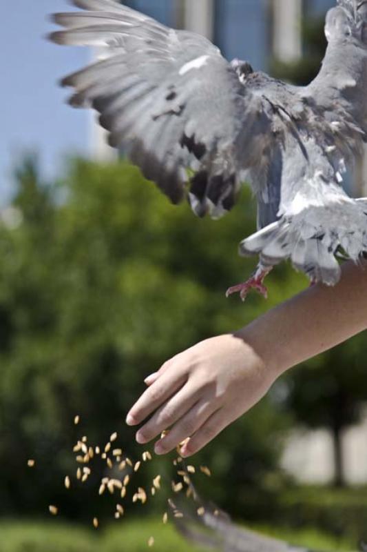
[[[360,262],[367,252],[367,198],[310,206],[266,226],[240,244],[240,255],[258,254],[264,266],[291,259],[312,282],[335,286],[341,268],[335,255]]]

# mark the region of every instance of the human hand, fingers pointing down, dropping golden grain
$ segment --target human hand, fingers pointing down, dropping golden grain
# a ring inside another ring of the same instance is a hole
[[[221,335],[207,339],[165,362],[149,376],[149,386],[132,406],[127,424],[150,419],[136,433],[147,443],[170,428],[155,445],[169,453],[190,437],[180,454],[202,449],[225,427],[254,406],[276,379],[244,339]]]

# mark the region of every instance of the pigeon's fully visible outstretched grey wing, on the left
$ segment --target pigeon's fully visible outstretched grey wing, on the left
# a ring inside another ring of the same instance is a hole
[[[242,170],[261,158],[271,119],[260,95],[198,34],[169,29],[113,0],[73,0],[52,41],[105,46],[107,59],[63,79],[72,106],[94,107],[121,148],[173,201],[220,217]]]

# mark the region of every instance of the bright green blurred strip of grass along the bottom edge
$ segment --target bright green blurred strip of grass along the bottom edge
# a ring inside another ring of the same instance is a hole
[[[281,538],[291,544],[324,551],[356,549],[348,539],[339,539],[316,529],[299,531],[264,525],[251,529]],[[190,552],[199,549],[188,545],[171,524],[163,526],[159,519],[118,522],[94,531],[58,522],[0,522],[0,552]],[[149,549],[147,541],[155,538]]]

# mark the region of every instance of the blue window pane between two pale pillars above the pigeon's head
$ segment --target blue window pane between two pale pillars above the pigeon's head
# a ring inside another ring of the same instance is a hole
[[[266,69],[268,17],[264,0],[216,0],[216,43],[228,59],[247,59]]]

